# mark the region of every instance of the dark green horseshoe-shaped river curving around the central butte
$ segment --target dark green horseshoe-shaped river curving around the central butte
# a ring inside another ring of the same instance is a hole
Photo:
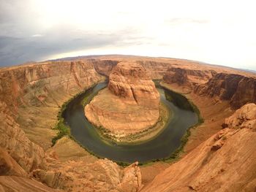
[[[167,158],[181,145],[181,137],[186,133],[187,128],[197,123],[197,114],[191,110],[192,107],[184,96],[178,96],[177,93],[172,96],[171,91],[157,88],[161,101],[171,110],[171,118],[166,128],[154,139],[137,145],[116,145],[105,142],[99,137],[96,128],[85,118],[82,101],[85,97],[91,101],[97,92],[106,86],[107,82],[99,82],[94,88],[72,99],[62,114],[65,123],[70,127],[72,137],[86,150],[99,157],[126,163],[135,161],[145,163]],[[173,101],[168,101],[165,96],[169,96]]]

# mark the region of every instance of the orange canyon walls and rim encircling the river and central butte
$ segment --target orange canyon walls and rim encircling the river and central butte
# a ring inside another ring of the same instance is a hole
[[[140,64],[200,109],[204,123],[175,163],[123,168],[69,137],[51,146],[61,104],[121,61]],[[255,74],[174,58],[102,55],[1,68],[0,191],[255,191],[255,102]]]

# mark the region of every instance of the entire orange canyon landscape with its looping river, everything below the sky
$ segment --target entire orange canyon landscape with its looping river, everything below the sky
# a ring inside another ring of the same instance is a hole
[[[253,72],[92,55],[2,67],[0,93],[0,191],[255,191]]]

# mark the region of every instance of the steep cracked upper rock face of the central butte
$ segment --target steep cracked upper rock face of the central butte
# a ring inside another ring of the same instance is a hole
[[[159,93],[148,73],[136,63],[119,63],[111,72],[108,89],[148,109],[159,108]]]

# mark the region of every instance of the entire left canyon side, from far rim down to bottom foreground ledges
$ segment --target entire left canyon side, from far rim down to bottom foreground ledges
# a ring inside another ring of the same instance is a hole
[[[60,140],[56,149],[50,147],[56,135],[51,128],[61,104],[99,80],[102,77],[94,66],[80,61],[49,61],[0,70],[0,191],[140,188],[138,164],[121,169],[107,159],[87,162],[91,155],[68,137],[66,140],[72,145],[66,147]],[[74,160],[59,160],[55,150]],[[75,154],[66,153],[67,150]]]

